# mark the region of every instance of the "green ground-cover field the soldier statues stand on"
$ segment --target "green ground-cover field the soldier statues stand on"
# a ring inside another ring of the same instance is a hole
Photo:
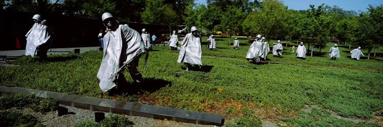
[[[270,51],[269,63],[254,65],[245,59],[251,45],[247,38],[238,37],[239,49],[229,45],[228,37],[216,36],[216,50],[207,49],[206,37],[202,40],[202,70],[183,70],[177,63],[178,51],[155,46],[142,73],[142,87],[131,85],[133,80],[124,72],[130,83],[127,93],[104,98],[222,114],[227,126],[256,126],[260,122],[254,121],[259,118],[282,126],[382,125],[383,48],[376,50],[376,57],[371,54],[370,60],[362,50],[365,56],[357,61],[350,58],[348,45],[338,44],[341,57],[330,60],[333,43],[328,43],[322,53],[316,47],[313,57],[307,53],[306,59],[297,59],[290,53],[292,45],[297,47],[296,41],[282,41],[288,42],[282,58],[272,57]],[[271,47],[272,43],[275,41],[269,42]],[[96,50],[49,55],[43,62],[23,56],[9,61],[20,66],[0,68],[0,85],[100,98],[103,92],[96,76],[101,59],[102,51]],[[306,111],[311,106],[319,108]],[[364,122],[353,123],[331,114]]]

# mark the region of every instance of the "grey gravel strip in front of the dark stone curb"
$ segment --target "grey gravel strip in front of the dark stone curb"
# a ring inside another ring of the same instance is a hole
[[[65,107],[68,109],[68,114],[58,117],[57,111],[47,112],[45,114],[42,113],[36,113],[33,112],[29,108],[23,108],[23,109],[10,109],[12,111],[19,111],[25,114],[32,114],[35,116],[38,120],[42,122],[42,124],[46,126],[73,126],[76,122],[83,121],[83,120],[92,120],[94,121],[94,112],[90,110],[84,110],[79,109],[71,106],[64,106],[60,105],[62,107]],[[105,113],[105,117],[109,117],[109,113]],[[129,120],[133,121],[135,125],[133,126],[213,126],[213,125],[200,125],[200,124],[192,124],[192,123],[183,123],[183,122],[175,122],[170,120],[156,120],[146,117],[139,117],[139,116],[129,116],[125,115],[125,117],[128,117]]]

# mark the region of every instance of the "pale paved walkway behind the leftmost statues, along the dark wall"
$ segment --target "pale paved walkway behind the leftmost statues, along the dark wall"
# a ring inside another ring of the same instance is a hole
[[[80,53],[83,53],[90,50],[99,50],[99,47],[52,48],[52,51],[48,52],[48,54],[65,54],[70,52],[74,53],[75,49],[80,49]],[[0,55],[6,57],[19,57],[25,55],[25,50],[0,51]]]

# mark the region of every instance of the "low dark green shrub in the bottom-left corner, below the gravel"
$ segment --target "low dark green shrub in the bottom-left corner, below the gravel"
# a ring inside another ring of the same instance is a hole
[[[44,126],[31,114],[22,114],[14,111],[0,111],[1,126]]]

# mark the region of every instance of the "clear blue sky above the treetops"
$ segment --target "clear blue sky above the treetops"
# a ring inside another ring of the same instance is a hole
[[[383,0],[283,0],[283,4],[293,10],[307,10],[309,5],[318,7],[323,3],[330,7],[338,6],[346,11],[367,12],[368,5],[373,7],[383,5]],[[197,0],[196,3],[206,5],[206,0]]]

